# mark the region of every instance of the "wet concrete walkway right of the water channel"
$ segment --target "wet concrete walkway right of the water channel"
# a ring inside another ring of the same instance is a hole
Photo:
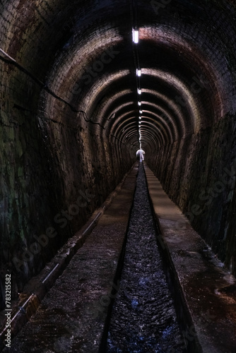
[[[187,348],[191,353],[235,353],[235,277],[194,232],[145,162],[144,167]]]

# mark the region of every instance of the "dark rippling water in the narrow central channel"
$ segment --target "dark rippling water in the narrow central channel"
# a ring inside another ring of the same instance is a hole
[[[185,352],[158,251],[142,163],[106,352]]]

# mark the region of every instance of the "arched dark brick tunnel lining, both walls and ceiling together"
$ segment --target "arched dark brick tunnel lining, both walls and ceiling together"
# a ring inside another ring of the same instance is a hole
[[[234,0],[1,0],[1,310],[136,163],[236,275]],[[188,242],[188,239],[186,239]]]

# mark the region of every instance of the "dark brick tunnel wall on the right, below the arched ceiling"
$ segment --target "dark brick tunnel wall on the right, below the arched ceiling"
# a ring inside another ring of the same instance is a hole
[[[146,152],[165,192],[234,275],[235,128],[236,116],[226,114],[211,128],[163,145],[155,157]]]

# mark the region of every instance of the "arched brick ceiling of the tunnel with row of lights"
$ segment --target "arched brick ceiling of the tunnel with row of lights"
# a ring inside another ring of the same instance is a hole
[[[138,148],[141,109],[142,145],[153,150],[235,112],[233,2],[3,2],[16,14],[6,19],[12,35],[1,49],[107,136]],[[50,95],[44,104],[58,115]]]

